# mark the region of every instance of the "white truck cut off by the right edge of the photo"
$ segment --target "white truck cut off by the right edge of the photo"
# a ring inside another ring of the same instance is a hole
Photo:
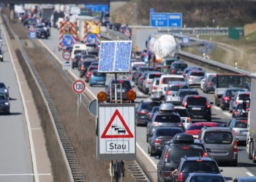
[[[246,108],[246,103],[243,103]],[[256,163],[256,74],[251,76],[251,95],[249,99],[249,113],[247,123],[246,152],[249,159]]]

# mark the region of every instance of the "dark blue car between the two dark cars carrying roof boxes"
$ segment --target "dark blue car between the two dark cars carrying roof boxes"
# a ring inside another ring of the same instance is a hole
[[[179,127],[157,127],[154,132],[148,134],[148,154],[161,155],[162,149],[173,139],[173,136],[182,132],[184,131]]]

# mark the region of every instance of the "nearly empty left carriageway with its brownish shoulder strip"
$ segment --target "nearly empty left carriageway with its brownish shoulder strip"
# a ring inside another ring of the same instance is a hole
[[[50,160],[45,147],[31,91],[0,17],[0,82],[10,87],[10,115],[0,116],[0,181],[53,181]]]

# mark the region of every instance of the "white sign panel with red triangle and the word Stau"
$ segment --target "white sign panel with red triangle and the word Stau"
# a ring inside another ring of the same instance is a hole
[[[135,159],[135,104],[99,104],[98,157]]]

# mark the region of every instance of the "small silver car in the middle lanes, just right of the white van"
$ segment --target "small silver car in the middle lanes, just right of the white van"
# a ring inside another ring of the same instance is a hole
[[[189,71],[185,77],[185,81],[189,86],[200,86],[203,76],[205,76],[204,71]]]

